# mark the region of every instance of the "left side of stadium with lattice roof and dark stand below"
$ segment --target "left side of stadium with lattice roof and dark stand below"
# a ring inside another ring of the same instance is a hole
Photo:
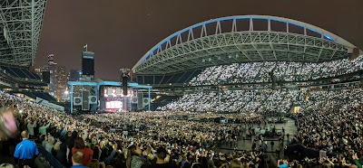
[[[44,98],[49,87],[32,70],[46,0],[0,2],[0,88],[22,98]]]

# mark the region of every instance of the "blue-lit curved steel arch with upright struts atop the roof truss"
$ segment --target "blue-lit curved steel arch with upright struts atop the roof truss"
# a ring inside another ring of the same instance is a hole
[[[194,25],[192,25],[190,27],[187,27],[187,28],[183,29],[182,31],[179,31],[177,33],[173,33],[169,37],[162,40],[162,42],[159,42],[154,47],[152,47],[152,49],[150,51],[146,52],[142,56],[142,59],[140,61],[138,61],[133,66],[132,70],[133,70],[133,72],[135,72],[135,70],[138,67],[140,68],[142,66],[142,64],[144,64],[144,62],[148,61],[150,58],[153,58],[154,56],[162,55],[162,53],[165,53],[165,51],[171,50],[175,46],[184,43],[184,42],[182,42],[182,33],[188,33],[188,39],[185,42],[195,41],[195,40],[201,39],[203,37],[211,36],[211,35],[207,35],[206,25],[210,24],[210,23],[216,23],[216,29],[215,29],[216,31],[212,35],[223,34],[221,32],[221,22],[223,22],[223,21],[232,21],[231,33],[236,33],[236,32],[238,32],[237,31],[236,21],[243,20],[243,19],[249,19],[250,20],[250,30],[247,31],[247,32],[257,32],[257,31],[253,30],[253,21],[254,20],[267,20],[268,21],[268,31],[264,31],[264,32],[265,33],[276,33],[276,32],[271,31],[271,28],[270,28],[270,21],[275,21],[275,22],[280,22],[280,23],[286,23],[287,29],[286,29],[285,33],[289,33],[289,24],[293,24],[293,25],[297,25],[299,27],[302,27],[304,29],[303,35],[306,36],[306,37],[310,37],[309,35],[307,35],[307,31],[311,31],[311,32],[314,32],[314,33],[319,33],[321,40],[330,41],[331,43],[337,43],[340,46],[346,47],[348,52],[351,52],[352,49],[357,48],[356,46],[354,46],[350,42],[347,42],[346,40],[338,37],[337,35],[335,35],[333,33],[329,33],[328,31],[326,31],[324,29],[321,29],[321,28],[319,28],[317,26],[311,25],[309,23],[302,23],[302,22],[299,22],[299,21],[296,21],[296,20],[277,17],[277,16],[237,15],[237,16],[230,16],[230,17],[222,17],[222,18],[218,18],[218,19],[213,19],[213,20],[206,21],[206,22],[203,22],[203,23],[197,23],[197,24],[194,24]],[[200,37],[194,38],[193,30],[198,28],[198,27],[201,27]],[[297,34],[295,34],[295,35],[297,35]],[[172,39],[173,38],[174,38],[174,40],[176,40],[175,44],[172,44]],[[271,46],[271,48],[272,48],[272,46]]]

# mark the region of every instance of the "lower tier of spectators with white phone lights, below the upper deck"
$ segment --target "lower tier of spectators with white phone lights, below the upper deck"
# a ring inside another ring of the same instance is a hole
[[[225,92],[199,92],[187,94],[158,110],[172,111],[229,111],[229,112],[288,112],[295,104],[301,104],[305,91],[290,90],[228,90]]]

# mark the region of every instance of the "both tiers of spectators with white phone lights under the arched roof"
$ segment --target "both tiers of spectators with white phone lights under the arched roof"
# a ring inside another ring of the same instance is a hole
[[[191,79],[191,86],[220,85],[221,83],[260,83],[278,81],[308,81],[361,73],[363,56],[354,61],[341,60],[324,63],[301,62],[253,62],[221,65],[202,70]],[[273,71],[270,76],[270,71]],[[360,76],[354,77],[360,79]],[[230,111],[230,112],[282,112],[293,106],[303,106],[308,101],[310,90],[226,90],[201,91],[182,96],[176,101],[158,107],[172,111]]]

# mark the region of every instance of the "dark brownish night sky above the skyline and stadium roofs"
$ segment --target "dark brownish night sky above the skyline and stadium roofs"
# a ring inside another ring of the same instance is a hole
[[[244,14],[310,23],[363,49],[362,0],[48,0],[35,66],[54,54],[81,69],[81,51],[95,52],[95,75],[120,79],[143,54],[172,33],[206,20]]]

